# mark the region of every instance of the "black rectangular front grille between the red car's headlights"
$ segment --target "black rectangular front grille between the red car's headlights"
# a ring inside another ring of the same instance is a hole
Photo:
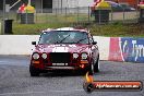
[[[71,53],[69,52],[50,52],[51,63],[69,63],[71,60]]]

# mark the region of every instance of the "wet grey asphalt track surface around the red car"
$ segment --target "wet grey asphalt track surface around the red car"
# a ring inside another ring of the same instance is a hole
[[[0,56],[0,96],[144,96],[141,92],[93,92],[83,89],[84,75],[47,73],[31,77],[29,57]],[[100,61],[95,81],[142,81],[144,63]]]

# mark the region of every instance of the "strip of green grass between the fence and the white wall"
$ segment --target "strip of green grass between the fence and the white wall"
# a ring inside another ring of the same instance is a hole
[[[69,27],[73,24],[69,23],[45,23],[45,24],[13,24],[13,33],[15,35],[36,35],[39,31],[46,28],[58,28],[58,27]],[[91,33],[95,36],[111,36],[111,37],[144,37],[144,25],[143,24],[106,24],[106,25],[85,25],[82,26],[89,27]]]

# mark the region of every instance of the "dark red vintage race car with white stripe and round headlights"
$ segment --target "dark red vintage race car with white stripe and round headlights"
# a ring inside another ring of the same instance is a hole
[[[29,73],[38,76],[49,71],[99,71],[99,51],[97,43],[87,29],[62,27],[43,31],[38,44],[32,41]]]

